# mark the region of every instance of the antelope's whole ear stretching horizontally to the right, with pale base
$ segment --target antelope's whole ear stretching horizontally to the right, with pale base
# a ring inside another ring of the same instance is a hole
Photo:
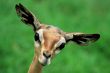
[[[73,41],[78,45],[88,45],[100,38],[99,34],[84,34],[84,33],[67,33],[65,39],[67,42]]]

